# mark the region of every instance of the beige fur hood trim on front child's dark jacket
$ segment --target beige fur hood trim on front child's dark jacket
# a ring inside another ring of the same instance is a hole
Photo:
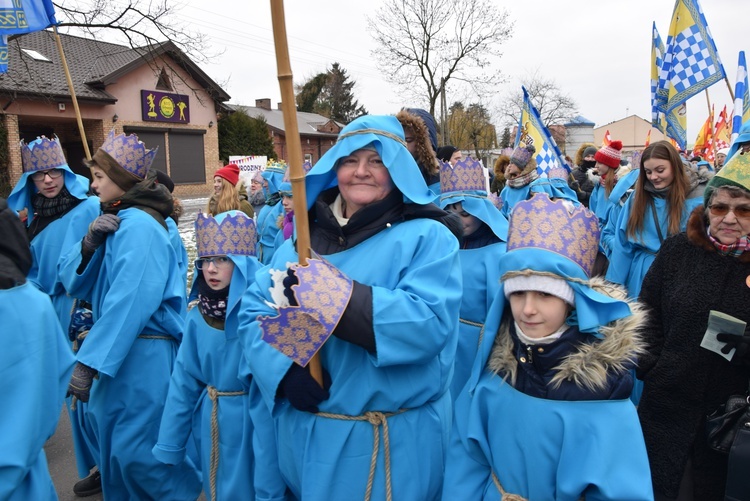
[[[592,391],[602,390],[607,386],[608,374],[629,370],[644,352],[645,343],[640,331],[646,322],[645,308],[629,299],[623,287],[601,277],[592,278],[589,286],[605,296],[627,302],[632,314],[600,327],[601,339],[598,342],[582,344],[578,350],[563,358],[552,378],[551,384],[555,388],[563,381],[571,381]],[[512,316],[508,314],[500,325],[487,368],[495,374],[504,374],[504,378],[515,385],[518,361],[510,335],[511,319]]]

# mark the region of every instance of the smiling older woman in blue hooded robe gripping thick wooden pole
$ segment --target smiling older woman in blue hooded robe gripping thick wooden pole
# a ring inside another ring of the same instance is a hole
[[[271,276],[287,276],[287,263],[298,260],[294,239],[243,297],[249,367],[241,371],[249,368],[272,409],[281,474],[298,499],[438,499],[461,299],[458,241],[441,224],[446,213],[430,204],[395,117],[347,125],[305,181],[312,250],[353,290],[318,352],[324,388],[261,336],[258,317],[277,314]],[[306,286],[299,281],[295,288]],[[293,291],[285,291],[292,305],[326,313],[319,291]],[[264,480],[255,482],[260,489]]]

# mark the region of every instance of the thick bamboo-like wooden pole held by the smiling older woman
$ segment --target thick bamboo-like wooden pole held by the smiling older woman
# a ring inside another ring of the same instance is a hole
[[[273,42],[276,48],[276,68],[281,88],[281,110],[284,115],[286,146],[289,153],[289,180],[292,183],[294,204],[294,228],[297,230],[297,254],[301,265],[310,257],[310,226],[307,217],[307,194],[305,193],[305,171],[302,168],[302,145],[297,125],[297,104],[294,97],[292,67],[289,62],[289,46],[286,38],[284,1],[271,0],[271,23]],[[308,364],[310,374],[323,386],[323,369],[316,353]]]

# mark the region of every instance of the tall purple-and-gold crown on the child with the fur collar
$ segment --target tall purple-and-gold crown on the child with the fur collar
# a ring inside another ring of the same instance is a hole
[[[599,220],[584,208],[536,193],[513,207],[508,230],[508,252],[541,249],[565,257],[591,276],[599,249]]]

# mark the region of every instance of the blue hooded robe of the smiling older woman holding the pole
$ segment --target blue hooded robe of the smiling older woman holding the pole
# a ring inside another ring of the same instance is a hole
[[[336,185],[340,158],[373,145],[405,201],[429,204],[434,194],[403,137],[395,117],[364,116],[350,123],[307,174],[308,203]],[[361,498],[376,433],[380,442],[372,498],[384,499],[384,425],[332,416],[378,411],[389,416],[394,498],[439,498],[461,297],[458,242],[442,223],[418,218],[392,224],[324,258],[371,287],[377,350],[371,353],[336,336],[328,339],[319,354],[332,385],[330,398],[319,405],[320,414],[299,411],[287,399],[276,398],[292,360],[261,338],[257,321],[259,315],[276,315],[265,302],[272,286],[269,268],[285,270],[288,261],[298,261],[292,239],[277,249],[270,267],[258,272],[242,300],[239,335],[248,364],[245,373],[252,373],[272,412],[281,474],[299,499]],[[266,462],[256,454],[256,464]],[[256,490],[258,483],[256,475]]]

